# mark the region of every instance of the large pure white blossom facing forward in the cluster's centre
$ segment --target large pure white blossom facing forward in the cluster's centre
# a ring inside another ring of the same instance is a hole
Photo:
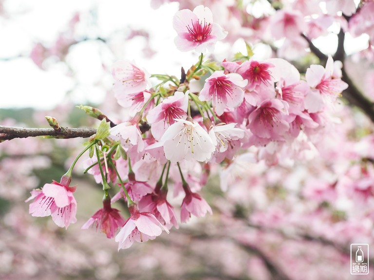
[[[177,119],[169,126],[161,141],[164,142],[165,157],[170,162],[183,159],[205,161],[216,149],[208,133],[194,121]]]

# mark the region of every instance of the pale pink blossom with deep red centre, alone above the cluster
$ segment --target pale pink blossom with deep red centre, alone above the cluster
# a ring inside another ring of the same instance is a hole
[[[174,43],[182,52],[193,49],[199,53],[204,53],[206,49],[211,52],[215,43],[227,35],[220,25],[213,22],[210,9],[203,5],[197,6],[193,11],[178,11],[173,18],[173,28],[178,33]]]

